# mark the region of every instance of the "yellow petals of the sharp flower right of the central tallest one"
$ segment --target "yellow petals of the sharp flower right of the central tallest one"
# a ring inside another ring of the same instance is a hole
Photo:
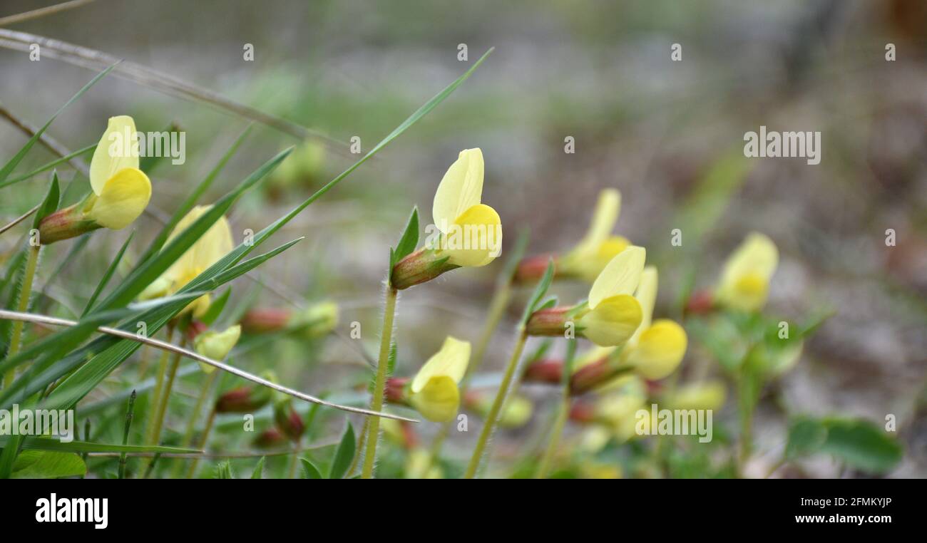
[[[641,324],[641,303],[631,293],[641,280],[646,251],[629,246],[616,255],[595,279],[588,311],[578,319],[582,335],[601,347],[628,341]]]

